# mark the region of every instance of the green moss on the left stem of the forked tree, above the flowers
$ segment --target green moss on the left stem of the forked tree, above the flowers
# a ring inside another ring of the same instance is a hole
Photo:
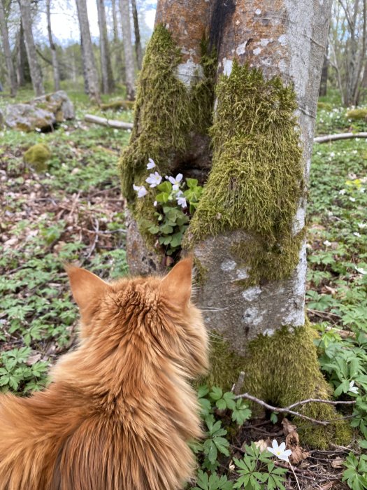
[[[185,153],[190,132],[205,132],[211,124],[214,82],[204,76],[194,87],[187,88],[175,73],[181,59],[180,48],[171,34],[158,25],[145,52],[136,96],[134,129],[120,161],[122,193],[136,217],[146,217],[145,211],[152,207],[151,200],[145,198],[144,204],[134,208],[133,183],[144,182],[148,158],[156,163],[157,172],[166,174]],[[203,56],[205,75],[213,75],[213,59]]]

